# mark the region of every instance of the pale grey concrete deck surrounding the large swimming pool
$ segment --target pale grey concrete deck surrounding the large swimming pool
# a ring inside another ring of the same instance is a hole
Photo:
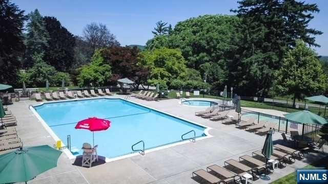
[[[121,97],[124,98],[124,96]],[[74,160],[70,160],[63,153],[56,168],[38,175],[28,183],[199,183],[191,178],[193,171],[213,164],[223,166],[224,160],[238,159],[241,155],[251,154],[262,148],[265,139],[265,136],[237,129],[234,125],[223,125],[220,122],[197,117],[194,112],[204,108],[181,106],[178,99],[159,102],[135,98],[129,100],[209,126],[212,128],[209,133],[213,137],[196,141],[196,143],[146,152],[145,156],[136,155],[91,168],[73,165]],[[28,108],[29,105],[35,104],[39,102],[20,101],[8,106],[17,119],[17,133],[24,146],[44,144],[53,146],[55,144],[53,138]],[[281,139],[281,135],[275,133],[274,140],[278,139]],[[326,147],[325,150],[327,150]],[[4,152],[0,152],[2,153]],[[270,180],[258,179],[254,183],[272,182],[323,156],[311,153],[303,160],[296,160],[292,165],[288,164],[286,168],[276,169],[270,175]]]

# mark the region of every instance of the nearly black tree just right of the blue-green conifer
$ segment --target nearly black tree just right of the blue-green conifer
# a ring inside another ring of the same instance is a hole
[[[75,38],[55,17],[43,18],[49,33],[44,60],[57,71],[68,71],[74,60]]]

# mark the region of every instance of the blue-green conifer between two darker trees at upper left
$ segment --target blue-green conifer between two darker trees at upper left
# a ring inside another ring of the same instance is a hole
[[[25,39],[26,53],[24,67],[33,66],[33,56],[42,54],[48,48],[49,33],[45,21],[37,9],[28,14],[27,34]]]

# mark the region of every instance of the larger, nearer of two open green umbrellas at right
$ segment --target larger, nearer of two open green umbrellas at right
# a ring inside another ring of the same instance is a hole
[[[327,121],[324,118],[308,110],[283,114],[283,116],[285,116],[285,118],[288,120],[292,120],[304,124],[324,125],[327,123]]]

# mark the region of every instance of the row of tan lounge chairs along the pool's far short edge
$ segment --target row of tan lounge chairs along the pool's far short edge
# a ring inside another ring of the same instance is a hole
[[[96,97],[96,96],[105,96],[105,95],[113,95],[113,94],[111,93],[111,91],[108,88],[106,88],[105,93],[103,93],[103,90],[98,89],[98,94],[96,94],[94,89],[91,89],[90,94],[89,94],[88,90],[84,90],[83,92],[76,91],[76,95],[79,98],[85,98],[85,97]],[[59,91],[59,96],[58,96],[57,92],[53,92],[52,96],[50,95],[50,93],[45,93],[45,96],[46,96],[46,100],[59,100],[59,99],[74,98],[72,91],[66,91],[65,94],[63,91]],[[35,94],[35,99],[37,101],[43,100],[41,97],[41,94],[39,94],[39,93]]]

